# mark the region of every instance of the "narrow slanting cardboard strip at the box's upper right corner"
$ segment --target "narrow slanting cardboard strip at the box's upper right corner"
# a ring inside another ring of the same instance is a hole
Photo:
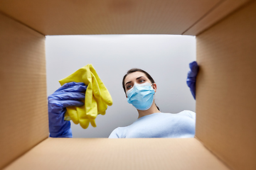
[[[189,28],[184,35],[198,35],[206,28],[209,28],[220,19],[227,16],[235,9],[239,8],[247,1],[250,0],[227,0],[227,1],[220,1],[206,16],[203,16],[198,22],[196,22],[191,28]]]

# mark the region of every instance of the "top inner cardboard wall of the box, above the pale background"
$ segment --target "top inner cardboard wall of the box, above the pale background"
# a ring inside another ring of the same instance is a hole
[[[181,34],[220,0],[9,0],[0,11],[44,35]]]

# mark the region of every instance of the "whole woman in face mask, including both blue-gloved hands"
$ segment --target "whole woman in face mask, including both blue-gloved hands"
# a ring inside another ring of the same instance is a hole
[[[196,98],[196,76],[198,65],[189,64],[187,84]],[[138,119],[127,127],[112,131],[110,138],[121,137],[193,137],[195,134],[196,113],[161,113],[154,102],[156,83],[142,69],[130,69],[123,78],[123,88],[128,103],[139,113]],[[70,121],[64,120],[66,107],[83,106],[87,86],[83,83],[64,84],[48,96],[48,116],[50,137],[72,137]]]

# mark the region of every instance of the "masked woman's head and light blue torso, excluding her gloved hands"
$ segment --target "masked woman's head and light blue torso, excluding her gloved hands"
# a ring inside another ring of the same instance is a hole
[[[122,86],[128,103],[137,108],[139,117],[132,125],[113,130],[109,138],[194,137],[196,113],[161,113],[154,101],[156,83],[147,72],[130,69]]]

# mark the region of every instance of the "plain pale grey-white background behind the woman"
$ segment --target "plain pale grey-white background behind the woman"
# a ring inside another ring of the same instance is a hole
[[[122,78],[128,69],[151,74],[157,85],[155,101],[164,113],[195,111],[196,101],[186,86],[188,64],[196,60],[196,37],[186,35],[65,35],[46,36],[48,96],[58,80],[92,64],[110,91],[113,105],[96,118],[97,128],[72,123],[73,137],[108,137],[114,128],[137,120],[127,103]]]

